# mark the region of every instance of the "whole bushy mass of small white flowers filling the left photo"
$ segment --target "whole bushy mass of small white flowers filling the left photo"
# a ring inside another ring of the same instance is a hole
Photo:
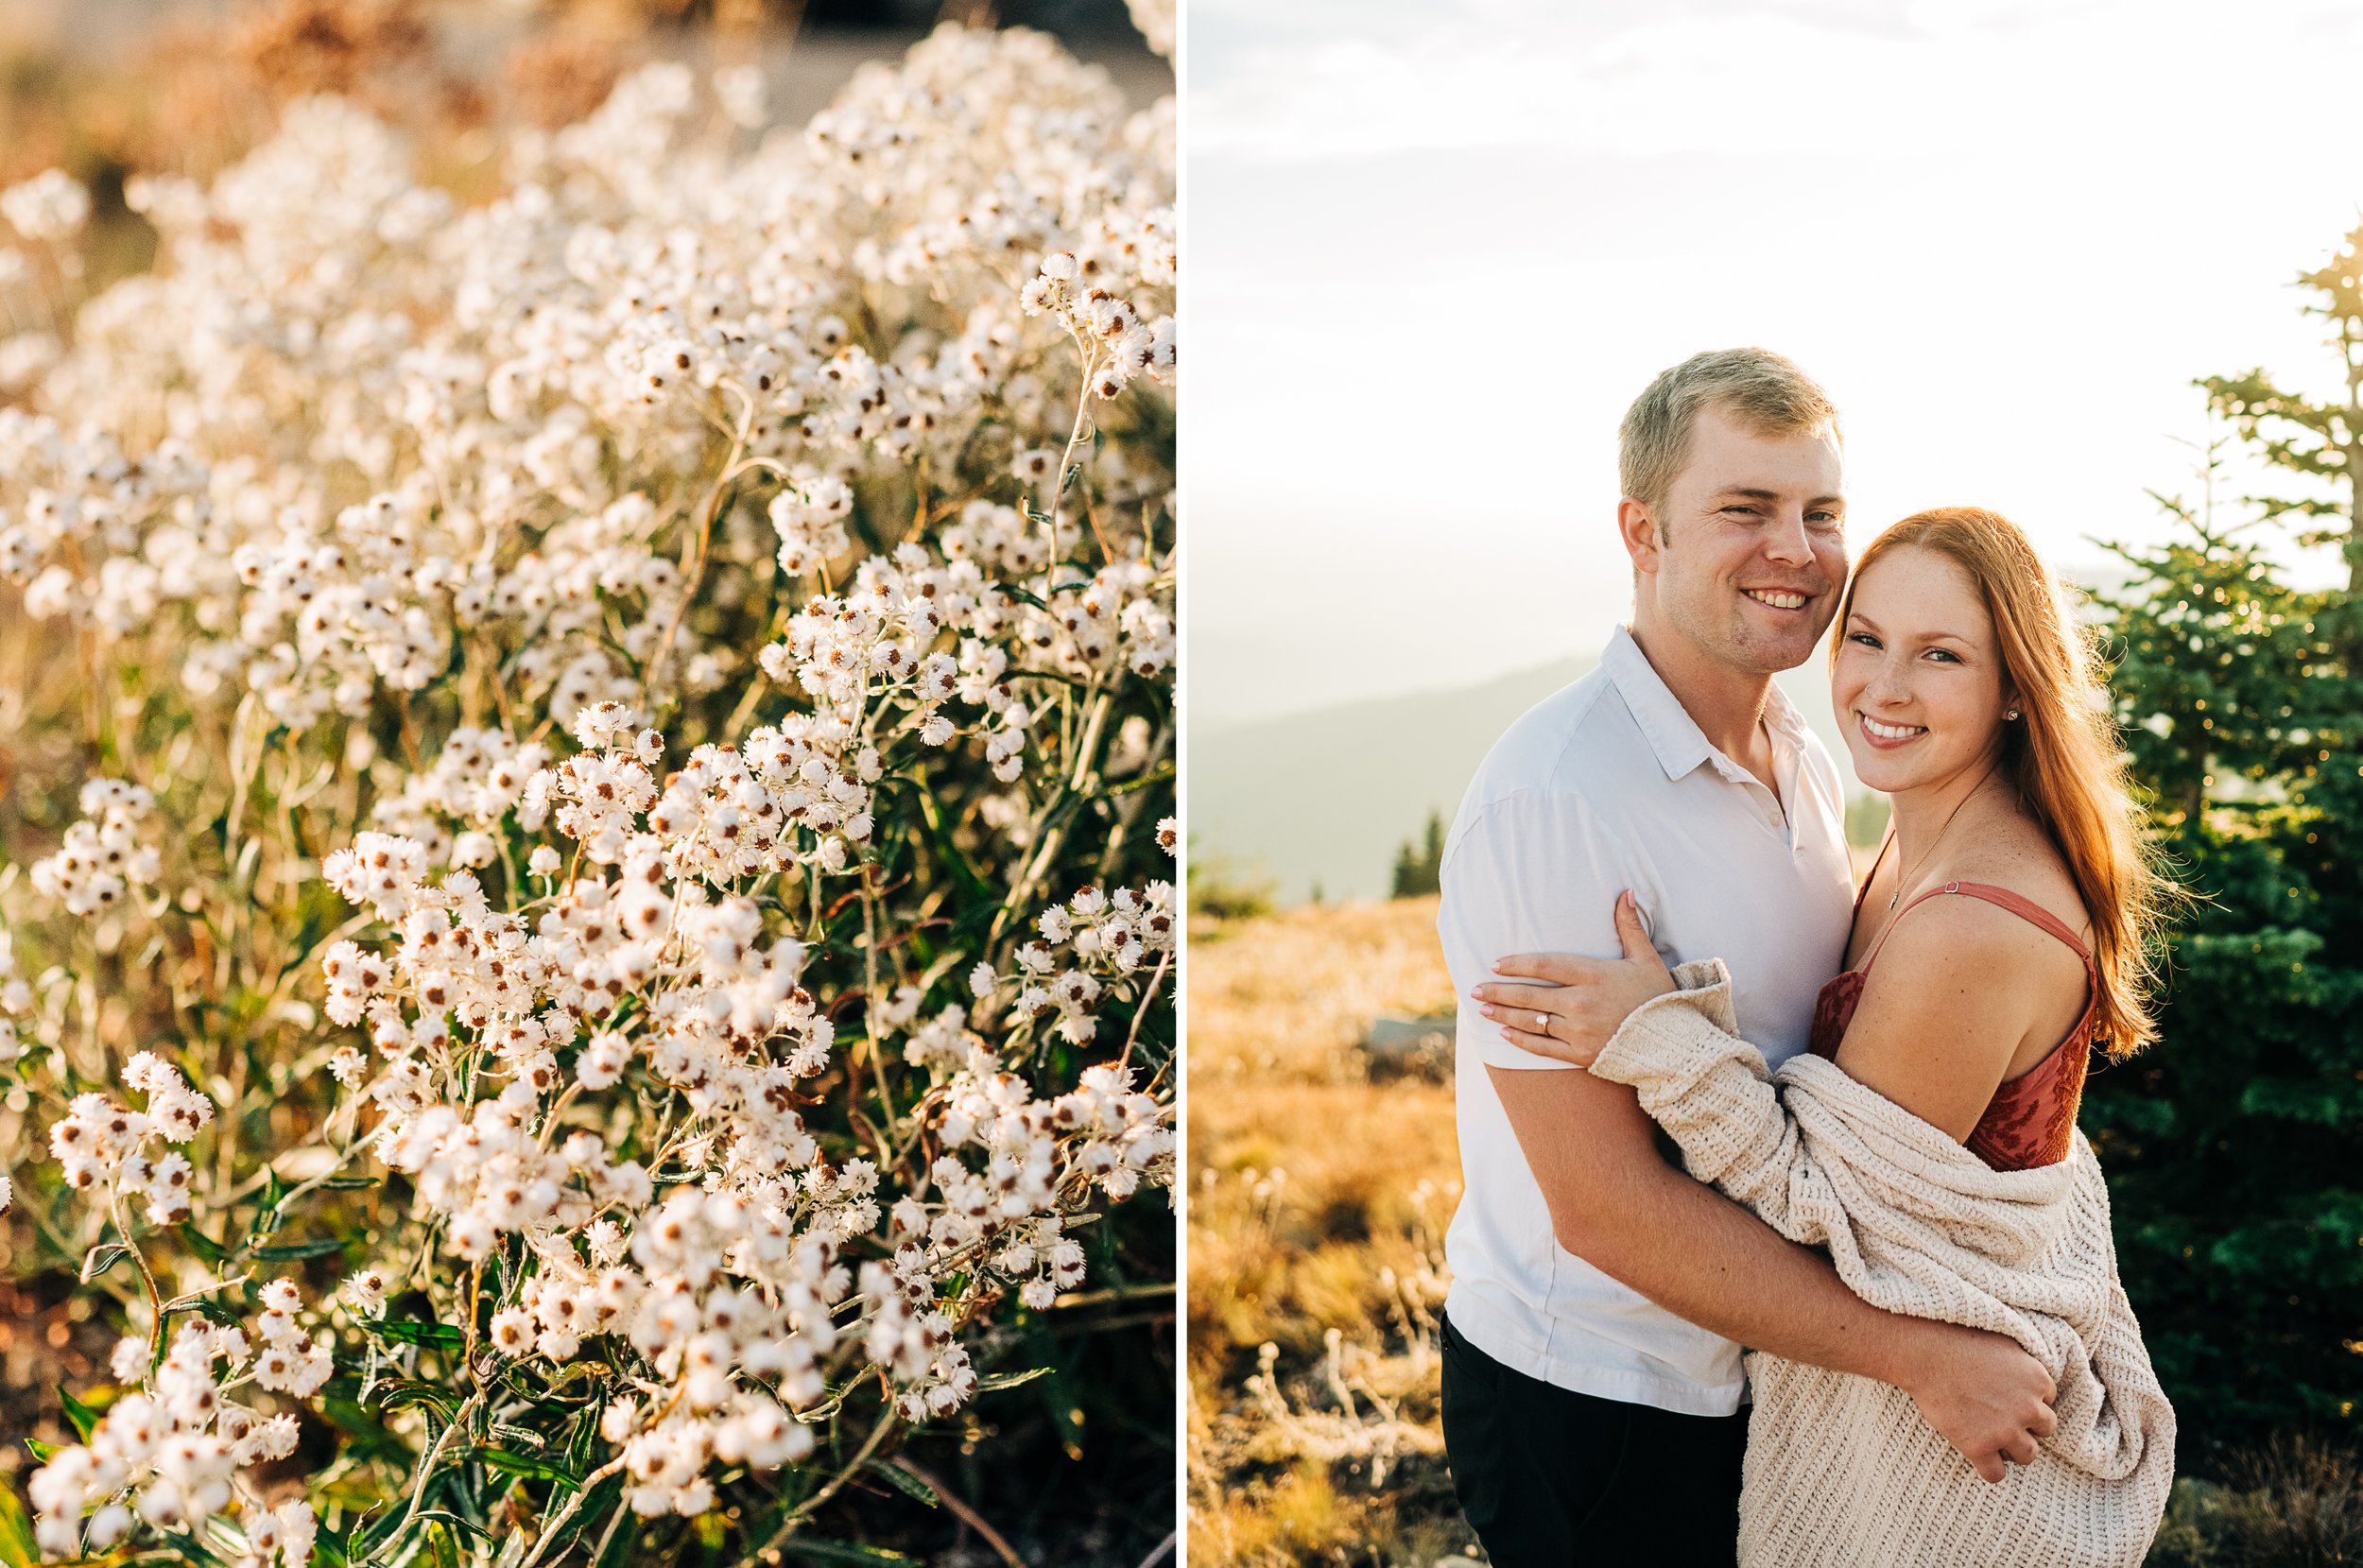
[[[711,1547],[992,1386],[1172,1183],[1172,104],[943,28],[763,113],[652,66],[463,208],[295,102],[130,182],[158,269],[0,406],[0,579],[175,737],[38,916],[123,907],[154,961],[83,1011],[220,1098],[57,1023],[87,933],[40,997],[0,947],[147,1329],[50,1554],[302,1563],[246,1471],[321,1400],[354,1563],[506,1497],[539,1568],[607,1478]],[[0,215],[71,234],[43,191]]]

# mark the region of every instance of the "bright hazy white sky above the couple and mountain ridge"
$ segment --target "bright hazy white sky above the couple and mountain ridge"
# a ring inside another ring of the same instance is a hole
[[[2363,7],[1186,14],[1198,725],[1597,649],[1616,418],[1704,347],[1834,392],[1857,550],[1975,503],[2070,569],[2195,489],[2195,375],[2330,368]]]

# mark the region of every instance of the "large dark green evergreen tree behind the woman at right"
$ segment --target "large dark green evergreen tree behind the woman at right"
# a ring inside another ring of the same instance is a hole
[[[2176,538],[2117,550],[2113,690],[2153,831],[2198,895],[2172,937],[2162,1037],[2094,1072],[2127,1292],[2183,1415],[2186,1466],[2292,1426],[2363,1433],[2363,293],[2349,236],[2304,279],[2344,401],[2261,371],[2209,404],[2302,494],[2167,501]],[[2209,453],[2209,475],[2219,468]],[[2342,550],[2302,593],[2264,550]]]

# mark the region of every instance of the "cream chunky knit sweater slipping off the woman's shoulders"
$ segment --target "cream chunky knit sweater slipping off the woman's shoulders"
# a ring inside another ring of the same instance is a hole
[[[2065,1162],[1994,1171],[1820,1056],[1777,1074],[1739,1039],[1720,959],[1640,1006],[1593,1063],[1630,1084],[1690,1174],[1827,1247],[1890,1313],[2013,1337],[2058,1384],[2058,1431],[1999,1485],[1888,1384],[1749,1353],[1744,1568],[2134,1568],[2174,1485],[2174,1407],[2117,1285],[2108,1188]]]

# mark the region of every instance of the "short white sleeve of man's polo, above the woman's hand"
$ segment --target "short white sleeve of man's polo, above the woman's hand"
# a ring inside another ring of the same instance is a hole
[[[1456,1048],[1489,1067],[1571,1072],[1522,1051],[1470,989],[1519,952],[1616,959],[1616,895],[1635,886],[1581,796],[1519,791],[1472,810],[1444,850],[1437,935],[1458,999]]]

